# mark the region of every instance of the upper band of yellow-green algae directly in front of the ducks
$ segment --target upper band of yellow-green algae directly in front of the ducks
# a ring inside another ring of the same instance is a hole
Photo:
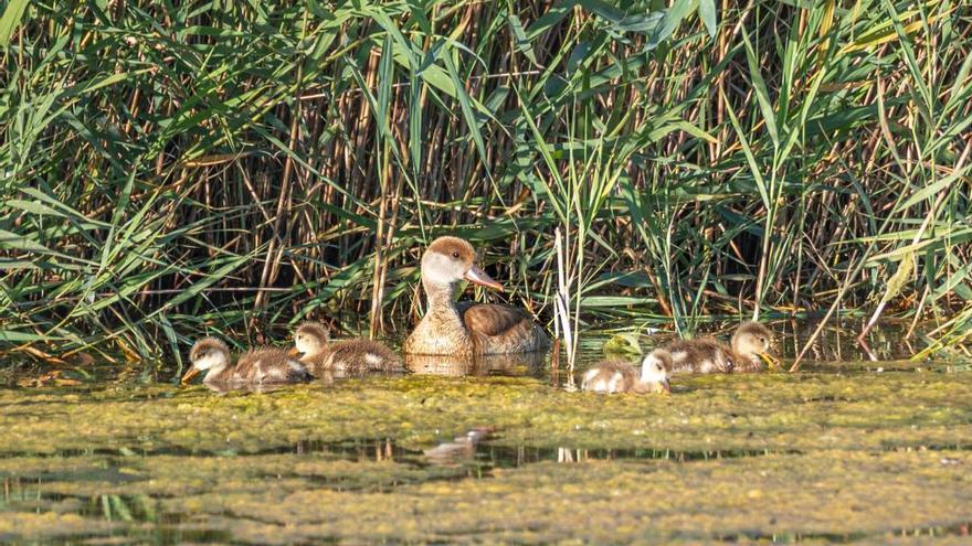
[[[299,440],[391,438],[419,448],[493,426],[499,445],[680,451],[949,447],[972,432],[963,374],[691,377],[672,397],[599,397],[529,378],[355,379],[265,395],[204,387],[0,390],[0,453],[105,449],[261,452]],[[65,408],[71,411],[66,413]],[[138,410],[134,410],[138,408]],[[837,410],[837,408],[839,410]],[[743,411],[744,409],[744,411]]]

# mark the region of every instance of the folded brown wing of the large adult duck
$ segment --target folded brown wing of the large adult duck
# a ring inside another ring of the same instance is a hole
[[[456,309],[479,354],[527,353],[549,344],[543,331],[520,309],[472,302]]]

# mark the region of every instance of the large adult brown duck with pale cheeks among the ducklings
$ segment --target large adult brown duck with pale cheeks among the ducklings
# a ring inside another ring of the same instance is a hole
[[[472,356],[545,351],[550,340],[520,309],[508,306],[455,303],[461,280],[503,290],[476,264],[476,251],[458,237],[440,237],[422,255],[425,317],[405,340],[405,354]]]

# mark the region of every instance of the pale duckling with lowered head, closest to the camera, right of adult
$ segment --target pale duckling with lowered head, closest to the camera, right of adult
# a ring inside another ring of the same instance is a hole
[[[626,362],[604,361],[584,373],[581,389],[589,393],[670,393],[670,367],[672,354],[663,349],[656,349],[644,357],[641,376]]]

